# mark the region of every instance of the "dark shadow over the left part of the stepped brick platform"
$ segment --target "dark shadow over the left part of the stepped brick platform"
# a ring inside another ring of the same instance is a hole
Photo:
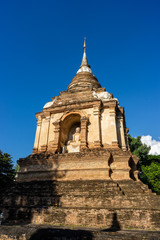
[[[15,183],[14,188],[5,193],[0,206],[4,223],[31,223],[34,212],[41,214],[44,209],[60,207],[61,196],[56,185],[56,181]]]

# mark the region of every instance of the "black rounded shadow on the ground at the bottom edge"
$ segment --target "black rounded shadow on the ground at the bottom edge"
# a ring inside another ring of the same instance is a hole
[[[92,240],[93,235],[86,230],[42,228],[32,234],[29,240]]]

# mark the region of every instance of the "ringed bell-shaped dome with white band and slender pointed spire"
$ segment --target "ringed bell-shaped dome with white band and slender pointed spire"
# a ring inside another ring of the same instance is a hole
[[[101,85],[97,78],[93,75],[90,65],[86,56],[86,42],[84,40],[84,53],[80,69],[77,71],[76,76],[72,79],[68,86],[68,91],[83,91],[87,89],[100,88]]]

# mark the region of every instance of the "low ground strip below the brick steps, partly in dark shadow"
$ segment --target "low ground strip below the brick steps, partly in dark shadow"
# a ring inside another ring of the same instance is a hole
[[[160,231],[51,225],[2,225],[0,240],[160,240]]]

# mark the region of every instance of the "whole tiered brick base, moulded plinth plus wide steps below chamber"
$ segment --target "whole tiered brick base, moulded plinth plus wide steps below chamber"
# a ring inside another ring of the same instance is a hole
[[[121,158],[121,169],[117,156]],[[121,151],[117,155],[109,150],[95,150],[90,154],[44,153],[21,159],[17,182],[0,206],[3,206],[4,221],[160,230],[159,197],[136,180],[132,161],[129,152]],[[128,171],[125,162],[130,165]],[[54,164],[57,164],[55,170]],[[117,178],[118,172],[121,179]],[[49,179],[51,176],[54,179]]]

